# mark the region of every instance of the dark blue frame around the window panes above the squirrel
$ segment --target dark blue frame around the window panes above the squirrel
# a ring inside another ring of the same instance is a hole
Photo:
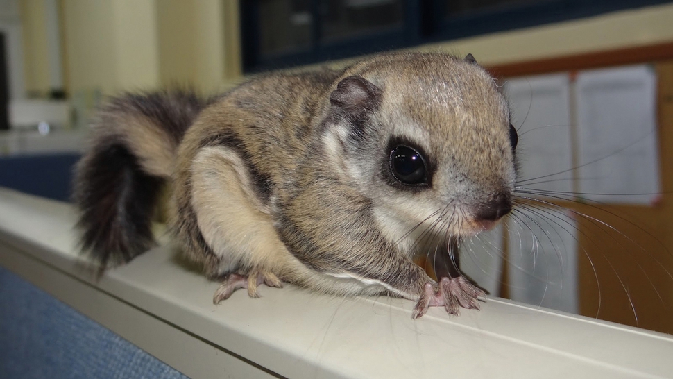
[[[444,17],[445,1],[404,0],[402,27],[384,33],[372,33],[366,37],[321,43],[319,3],[322,0],[312,0],[314,22],[311,47],[299,53],[262,57],[259,52],[259,1],[264,0],[239,0],[241,47],[246,73],[309,65],[672,2],[671,0],[546,0],[536,4],[502,6]]]

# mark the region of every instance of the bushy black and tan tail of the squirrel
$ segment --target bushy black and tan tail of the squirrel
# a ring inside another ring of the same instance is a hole
[[[100,264],[128,262],[155,243],[151,224],[178,144],[205,103],[191,92],[126,94],[103,106],[75,172],[81,247]]]

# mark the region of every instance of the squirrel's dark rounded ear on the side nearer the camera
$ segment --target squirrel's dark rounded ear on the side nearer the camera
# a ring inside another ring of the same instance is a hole
[[[381,90],[361,76],[348,76],[330,94],[332,106],[340,108],[356,118],[377,108],[381,102]]]

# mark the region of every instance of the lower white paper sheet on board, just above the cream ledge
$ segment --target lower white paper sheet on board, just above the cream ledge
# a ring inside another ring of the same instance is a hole
[[[506,230],[511,298],[577,313],[577,221],[572,214],[518,208]]]

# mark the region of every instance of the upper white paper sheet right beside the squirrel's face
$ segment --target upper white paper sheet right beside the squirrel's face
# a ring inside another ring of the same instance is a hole
[[[568,74],[507,81],[511,121],[518,130],[518,186],[572,192]]]

